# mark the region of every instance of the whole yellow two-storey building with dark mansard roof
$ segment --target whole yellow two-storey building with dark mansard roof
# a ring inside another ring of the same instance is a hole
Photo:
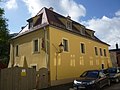
[[[42,8],[11,40],[9,67],[46,68],[50,85],[66,83],[88,69],[110,67],[108,44],[95,31]]]

